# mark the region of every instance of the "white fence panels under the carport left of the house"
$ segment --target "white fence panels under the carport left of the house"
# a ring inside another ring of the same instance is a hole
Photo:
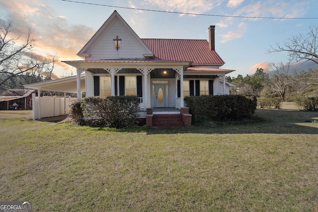
[[[69,114],[69,102],[77,98],[32,94],[33,120]]]

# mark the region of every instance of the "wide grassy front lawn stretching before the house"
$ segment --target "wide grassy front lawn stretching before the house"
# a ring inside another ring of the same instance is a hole
[[[8,113],[0,111],[0,201],[30,201],[34,211],[318,210],[317,112],[123,130]]]

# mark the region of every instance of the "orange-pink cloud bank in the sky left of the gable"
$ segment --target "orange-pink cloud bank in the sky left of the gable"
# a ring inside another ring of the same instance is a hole
[[[47,58],[56,55],[57,71],[71,71],[72,67],[60,60],[79,60],[76,54],[94,34],[91,27],[71,24],[37,0],[3,1],[1,6],[7,13],[7,20],[12,20],[12,27],[22,33],[21,42],[31,28],[31,37],[35,40],[33,50]]]

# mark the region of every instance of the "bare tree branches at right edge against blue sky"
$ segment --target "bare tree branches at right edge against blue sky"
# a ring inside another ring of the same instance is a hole
[[[291,60],[299,62],[310,60],[318,64],[318,27],[310,26],[306,35],[302,33],[287,39],[283,45],[277,43],[277,47],[268,50],[272,52],[287,52]]]

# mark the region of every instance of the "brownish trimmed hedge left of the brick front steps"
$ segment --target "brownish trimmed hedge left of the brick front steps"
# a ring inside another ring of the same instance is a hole
[[[73,119],[77,124],[105,125],[114,128],[136,125],[139,107],[137,96],[91,96],[85,97],[79,102],[80,110],[77,102],[76,106],[71,107],[71,110],[74,108],[76,111],[70,113],[77,114],[77,119]],[[81,118],[81,120],[79,121],[78,118]]]

